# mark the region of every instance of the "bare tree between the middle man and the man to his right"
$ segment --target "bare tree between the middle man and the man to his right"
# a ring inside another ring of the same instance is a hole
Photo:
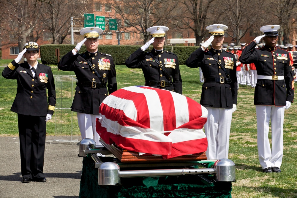
[[[175,26],[180,29],[192,29],[196,45],[202,42],[206,35],[206,24],[211,3],[215,0],[176,0],[181,4],[180,16],[173,19]],[[217,8],[217,6],[216,6]]]

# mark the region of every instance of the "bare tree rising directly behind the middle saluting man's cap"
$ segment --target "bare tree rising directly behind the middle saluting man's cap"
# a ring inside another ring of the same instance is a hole
[[[166,25],[177,14],[174,12],[178,2],[172,0],[111,0],[116,17],[121,20],[125,31],[143,35],[143,43],[149,40],[146,29],[151,26]]]

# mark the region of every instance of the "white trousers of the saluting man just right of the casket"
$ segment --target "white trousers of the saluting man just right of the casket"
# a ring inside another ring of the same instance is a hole
[[[208,110],[204,130],[208,142],[207,159],[228,159],[232,109],[205,107]]]

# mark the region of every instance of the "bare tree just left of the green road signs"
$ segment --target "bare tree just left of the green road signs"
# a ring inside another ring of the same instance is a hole
[[[38,18],[52,34],[53,44],[62,44],[70,33],[70,18],[83,18],[89,7],[88,0],[37,0],[42,3],[38,7]]]

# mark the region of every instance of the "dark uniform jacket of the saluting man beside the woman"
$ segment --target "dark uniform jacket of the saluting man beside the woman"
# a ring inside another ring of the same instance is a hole
[[[91,69],[88,62],[104,79],[104,83],[100,82],[99,77]],[[73,55],[72,51],[63,56],[58,63],[58,68],[63,71],[74,71],[77,79],[75,88],[75,96],[71,106],[71,110],[79,113],[99,115],[99,106],[102,101],[117,90],[116,69],[113,58],[104,53],[89,53]]]

